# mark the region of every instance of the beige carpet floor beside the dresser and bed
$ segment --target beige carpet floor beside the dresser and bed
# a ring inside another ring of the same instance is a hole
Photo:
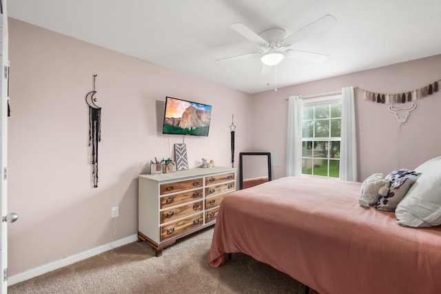
[[[134,242],[8,287],[8,293],[305,293],[305,286],[241,253],[218,269],[208,263],[213,227],[156,258]]]

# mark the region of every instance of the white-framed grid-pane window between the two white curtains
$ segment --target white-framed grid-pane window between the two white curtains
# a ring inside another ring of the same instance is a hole
[[[302,174],[339,178],[341,95],[303,101]]]

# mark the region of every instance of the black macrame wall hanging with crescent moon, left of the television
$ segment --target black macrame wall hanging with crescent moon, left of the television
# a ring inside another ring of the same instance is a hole
[[[89,146],[91,147],[94,188],[98,187],[98,143],[101,142],[101,107],[95,104],[95,78],[96,74],[94,74],[94,90],[85,96],[85,102],[89,105]]]

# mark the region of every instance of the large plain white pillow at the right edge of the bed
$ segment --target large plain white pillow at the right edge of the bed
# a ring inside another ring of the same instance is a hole
[[[441,224],[441,156],[427,160],[415,169],[422,173],[398,204],[398,224],[431,227]]]

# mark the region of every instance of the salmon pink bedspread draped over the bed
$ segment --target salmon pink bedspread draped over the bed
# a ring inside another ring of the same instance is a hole
[[[230,194],[209,264],[241,252],[323,294],[441,293],[441,227],[402,227],[393,212],[360,207],[360,185],[301,176]]]

